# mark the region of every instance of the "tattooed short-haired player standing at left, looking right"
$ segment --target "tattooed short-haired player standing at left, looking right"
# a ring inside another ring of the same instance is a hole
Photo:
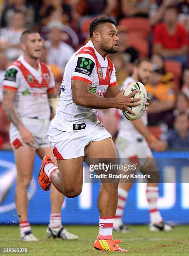
[[[22,241],[37,241],[27,217],[27,188],[32,179],[35,152],[43,158],[52,154],[47,131],[50,124],[50,105],[57,101],[54,76],[50,67],[39,61],[42,39],[35,31],[21,36],[24,55],[20,56],[5,74],[3,107],[9,117],[10,143],[17,166],[15,203],[20,222]],[[56,159],[55,159],[56,162]],[[61,207],[64,196],[54,187],[51,192],[52,212],[47,236],[77,239],[62,227]],[[58,225],[59,224],[59,225]]]

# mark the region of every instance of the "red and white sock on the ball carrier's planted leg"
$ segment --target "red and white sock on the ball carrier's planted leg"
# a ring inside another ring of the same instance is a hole
[[[99,235],[100,240],[111,239],[112,229],[115,217],[100,217],[99,218]]]

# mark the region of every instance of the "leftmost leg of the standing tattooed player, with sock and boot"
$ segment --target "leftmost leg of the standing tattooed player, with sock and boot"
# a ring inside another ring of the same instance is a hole
[[[31,233],[30,223],[27,218],[27,188],[32,179],[35,151],[36,149],[30,146],[20,146],[14,150],[17,167],[15,204],[19,216],[20,238],[23,241],[37,241],[37,238]]]

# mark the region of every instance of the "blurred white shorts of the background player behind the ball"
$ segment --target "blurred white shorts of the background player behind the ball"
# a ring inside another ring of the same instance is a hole
[[[117,136],[115,141],[115,146],[118,151],[120,159],[128,159],[132,161],[134,159],[152,158],[152,151],[148,146],[145,138],[123,138],[122,136]],[[141,163],[142,164],[142,163]]]

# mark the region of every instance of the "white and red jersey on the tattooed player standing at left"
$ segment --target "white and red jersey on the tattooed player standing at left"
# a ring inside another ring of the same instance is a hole
[[[8,67],[3,88],[16,92],[15,110],[19,117],[50,118],[47,93],[55,92],[55,80],[50,67],[38,61],[36,70],[20,56]]]

